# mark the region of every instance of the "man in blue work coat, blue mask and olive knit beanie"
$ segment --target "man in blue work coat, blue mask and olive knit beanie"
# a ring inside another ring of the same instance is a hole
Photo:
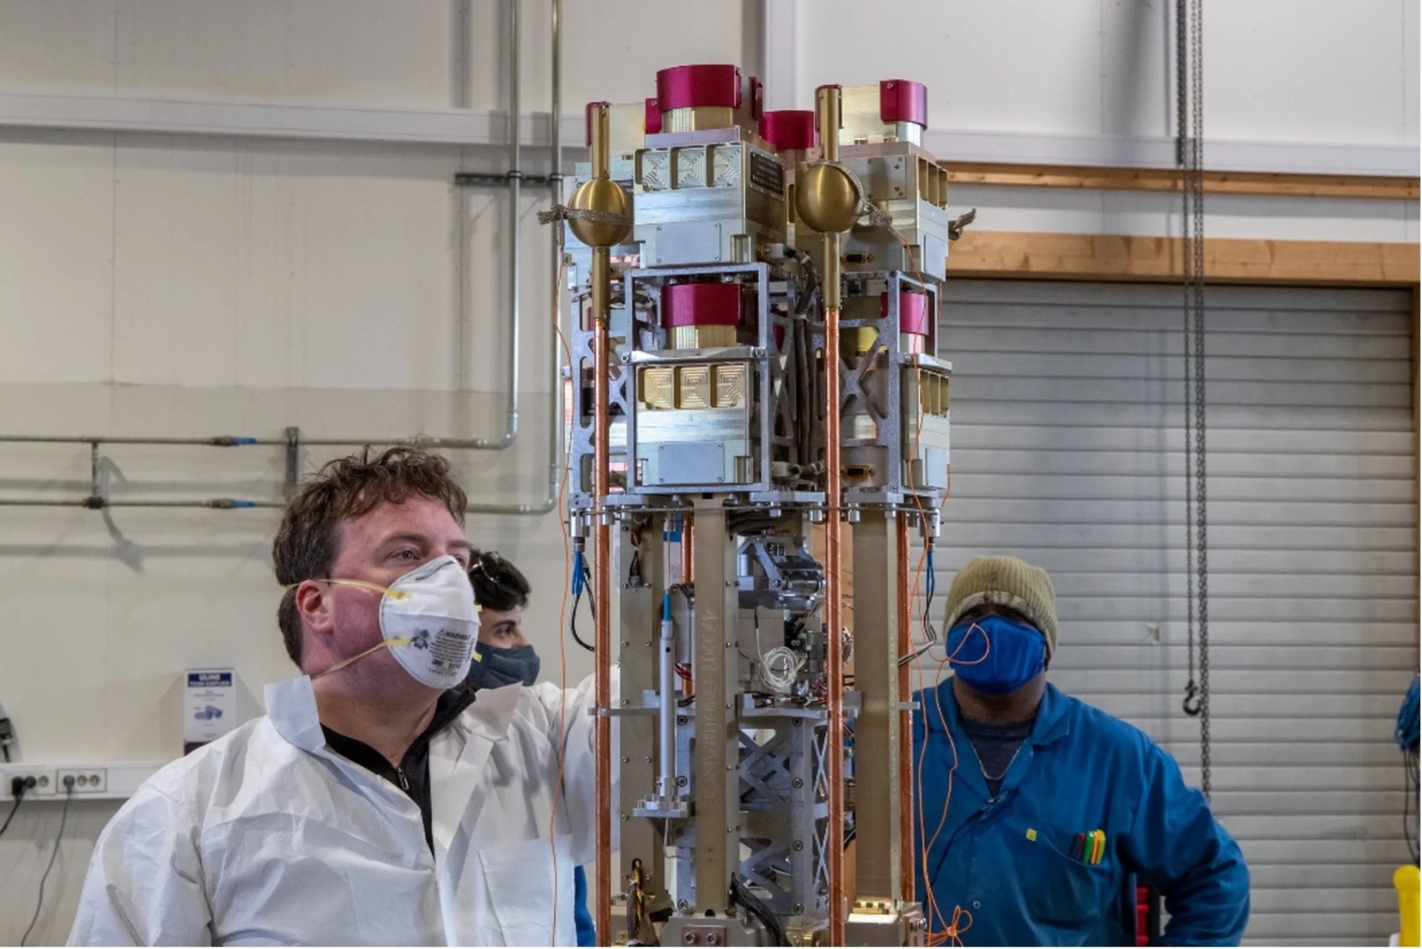
[[[1047,683],[1047,572],[975,558],[946,626],[954,674],[914,696],[930,931],[968,946],[1126,945],[1135,875],[1165,898],[1163,945],[1239,945],[1249,869],[1204,797],[1142,731]]]

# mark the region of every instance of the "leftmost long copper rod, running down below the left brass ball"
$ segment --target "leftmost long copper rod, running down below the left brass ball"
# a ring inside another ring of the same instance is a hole
[[[596,667],[594,699],[597,704],[596,748],[597,748],[597,802],[594,811],[597,844],[597,881],[593,889],[593,921],[597,926],[597,945],[610,946],[613,933],[613,885],[611,885],[611,525],[607,524],[604,504],[611,481],[609,458],[609,339],[607,320],[610,287],[610,260],[607,248],[593,248],[592,297],[593,322],[597,333],[593,346],[593,612],[594,640],[593,659]]]

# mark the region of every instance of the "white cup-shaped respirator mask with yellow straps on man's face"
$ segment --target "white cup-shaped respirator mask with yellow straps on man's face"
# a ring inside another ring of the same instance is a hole
[[[479,637],[479,608],[459,561],[445,555],[421,563],[390,586],[334,578],[327,582],[383,593],[380,633],[384,639],[317,673],[313,682],[381,649],[388,649],[401,669],[431,689],[454,689],[469,674]]]

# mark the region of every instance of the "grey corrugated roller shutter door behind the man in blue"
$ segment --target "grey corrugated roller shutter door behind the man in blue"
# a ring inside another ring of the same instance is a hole
[[[1052,680],[1197,784],[1180,290],[953,280],[944,300],[940,596],[975,553],[1048,568]],[[1386,945],[1408,859],[1392,723],[1418,667],[1411,302],[1212,287],[1207,304],[1214,808],[1250,862],[1249,940]]]

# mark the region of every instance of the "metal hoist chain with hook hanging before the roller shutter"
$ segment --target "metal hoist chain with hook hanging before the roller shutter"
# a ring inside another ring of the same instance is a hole
[[[1176,0],[1176,166],[1183,193],[1185,576],[1189,679],[1185,713],[1200,719],[1200,787],[1210,797],[1210,572],[1204,452],[1204,71],[1202,0]],[[1196,646],[1199,620],[1199,647]],[[1196,680],[1199,652],[1199,680]]]

